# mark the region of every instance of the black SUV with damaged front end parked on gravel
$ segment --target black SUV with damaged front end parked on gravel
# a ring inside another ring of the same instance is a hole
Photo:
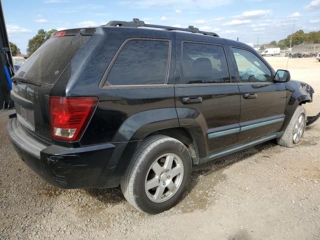
[[[57,31],[16,72],[8,135],[61,188],[121,185],[140,211],[177,203],[192,165],[300,143],[312,87],[197,28],[110,21]]]

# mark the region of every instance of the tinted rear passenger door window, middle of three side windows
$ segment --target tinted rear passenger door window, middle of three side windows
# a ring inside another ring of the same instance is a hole
[[[184,42],[182,77],[185,84],[230,82],[228,65],[220,45]]]

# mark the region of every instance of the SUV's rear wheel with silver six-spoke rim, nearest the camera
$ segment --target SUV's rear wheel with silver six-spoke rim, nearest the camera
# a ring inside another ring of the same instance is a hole
[[[174,206],[191,174],[185,145],[165,135],[145,138],[121,180],[126,200],[142,212],[156,214]]]

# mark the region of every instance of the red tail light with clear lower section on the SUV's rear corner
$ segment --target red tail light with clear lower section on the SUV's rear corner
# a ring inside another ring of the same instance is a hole
[[[78,140],[97,104],[97,97],[50,96],[52,138]]]

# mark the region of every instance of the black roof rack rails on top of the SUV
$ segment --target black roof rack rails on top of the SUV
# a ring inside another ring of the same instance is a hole
[[[203,35],[208,35],[208,36],[217,36],[217,37],[219,36],[214,32],[200,31],[199,28],[196,28],[194,26],[189,26],[188,28],[182,28],[182,27],[174,27],[174,26],[146,24],[144,23],[144,21],[140,21],[139,18],[133,18],[133,21],[109,21],[104,26],[126,26],[126,27],[144,26],[144,27],[162,28],[166,30],[178,30],[178,31],[201,33]]]

